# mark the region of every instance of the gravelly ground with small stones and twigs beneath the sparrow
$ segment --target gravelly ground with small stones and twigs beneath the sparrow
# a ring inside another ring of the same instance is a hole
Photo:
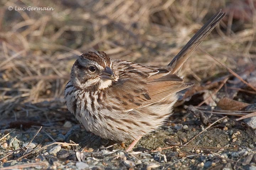
[[[178,109],[177,112],[185,110]],[[1,169],[255,169],[255,130],[230,118],[224,118],[184,145],[207,126],[192,114],[175,114],[166,125],[144,136],[133,152],[113,141],[103,140],[72,121],[58,121],[55,128],[5,129],[1,134],[0,159],[6,150],[16,150],[1,160]],[[72,118],[73,119],[73,118]],[[219,117],[212,117],[217,120]],[[58,127],[58,128],[56,128]],[[54,142],[79,146],[51,145]],[[129,145],[131,141],[126,141]],[[47,145],[49,145],[47,147]],[[163,149],[166,147],[170,149]],[[158,150],[158,151],[155,151]],[[163,149],[163,150],[161,150]],[[153,150],[153,151],[152,151]],[[161,150],[161,151],[160,151]],[[31,152],[34,151],[34,152]],[[18,159],[25,156],[22,159]],[[28,168],[26,168],[28,167]]]

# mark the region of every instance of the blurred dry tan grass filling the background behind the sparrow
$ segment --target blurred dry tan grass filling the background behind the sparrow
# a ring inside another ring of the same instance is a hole
[[[70,117],[63,90],[81,53],[164,66],[219,9],[226,17],[183,75],[199,84],[227,73],[202,50],[237,72],[256,63],[255,7],[255,0],[1,0],[1,119]]]

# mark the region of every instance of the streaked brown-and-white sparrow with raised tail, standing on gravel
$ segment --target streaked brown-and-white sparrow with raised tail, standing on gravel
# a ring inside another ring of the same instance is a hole
[[[74,63],[64,98],[69,111],[87,131],[105,139],[139,139],[164,124],[190,87],[178,77],[183,63],[225,16],[217,12],[166,67],[114,60],[101,51],[82,54]]]

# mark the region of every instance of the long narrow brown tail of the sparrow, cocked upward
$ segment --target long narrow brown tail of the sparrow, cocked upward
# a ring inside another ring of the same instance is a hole
[[[198,32],[188,41],[183,49],[172,59],[167,65],[167,69],[170,70],[171,74],[177,74],[183,63],[190,57],[191,53],[197,48],[199,44],[206,38],[207,35],[217,26],[220,20],[226,15],[225,12],[219,10],[204,26],[198,30]]]

